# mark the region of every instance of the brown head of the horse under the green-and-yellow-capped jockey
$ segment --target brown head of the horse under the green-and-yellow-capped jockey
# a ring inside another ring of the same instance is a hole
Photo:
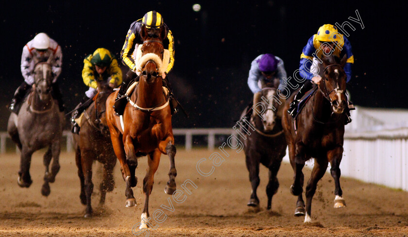
[[[106,100],[113,93],[113,88],[108,84],[98,83],[98,94],[94,97],[95,105],[95,125],[102,135],[109,135],[109,128],[106,122]]]

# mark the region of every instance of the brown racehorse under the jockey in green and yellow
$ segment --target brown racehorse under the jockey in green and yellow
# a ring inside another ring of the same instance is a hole
[[[105,113],[106,99],[113,92],[113,89],[108,85],[98,83],[98,91],[93,99],[94,102],[84,111],[79,135],[73,134],[75,161],[81,182],[80,199],[81,203],[86,205],[85,218],[92,217],[92,163],[94,160],[103,164],[100,205],[105,203],[106,192],[113,191],[115,185],[112,172],[116,165],[116,156],[110,140]]]

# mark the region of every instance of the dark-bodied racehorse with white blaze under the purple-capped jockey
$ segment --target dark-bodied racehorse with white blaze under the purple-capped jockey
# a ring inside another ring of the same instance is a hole
[[[283,107],[284,104],[278,99],[276,88],[266,87],[262,89],[261,93],[262,98],[267,102],[261,100],[260,104],[254,105],[254,109],[257,111],[256,115],[254,116],[253,114],[251,116],[250,124],[246,127],[241,126],[240,132],[245,134],[248,131],[255,131],[248,135],[247,139],[243,140],[245,161],[252,186],[251,197],[247,205],[253,207],[259,206],[256,189],[260,182],[259,163],[261,163],[269,169],[269,182],[266,186],[266,194],[268,196],[267,209],[269,210],[272,205],[272,196],[279,187],[276,174],[280,168],[282,158],[286,154],[287,144],[282,129],[282,115],[279,110],[279,107]],[[242,112],[241,118],[246,113],[248,113],[247,109]],[[245,129],[246,131],[244,131]]]

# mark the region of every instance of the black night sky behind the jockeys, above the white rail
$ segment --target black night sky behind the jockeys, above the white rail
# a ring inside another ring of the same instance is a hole
[[[190,114],[173,117],[173,127],[231,127],[251,100],[247,86],[252,60],[271,52],[285,62],[288,76],[299,68],[308,38],[323,24],[356,17],[365,28],[349,30],[355,64],[348,90],[367,107],[408,108],[405,73],[406,11],[391,1],[9,1],[1,6],[0,131],[10,112],[6,104],[23,81],[23,46],[45,32],[63,49],[58,79],[68,109],[87,87],[83,59],[97,48],[119,58],[130,24],[151,10],[162,14],[175,39],[170,73],[174,94]],[[192,5],[201,4],[194,12]],[[126,68],[123,67],[126,72]]]

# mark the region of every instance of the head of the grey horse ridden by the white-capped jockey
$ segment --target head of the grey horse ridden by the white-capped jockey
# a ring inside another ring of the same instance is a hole
[[[41,101],[51,98],[52,70],[48,63],[38,63],[34,67],[34,88]]]

